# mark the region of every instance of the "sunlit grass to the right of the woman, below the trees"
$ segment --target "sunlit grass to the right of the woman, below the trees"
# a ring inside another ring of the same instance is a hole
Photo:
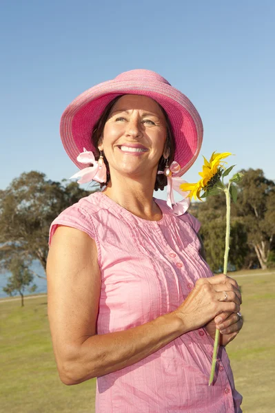
[[[243,294],[245,323],[238,337],[227,346],[227,353],[236,389],[243,394],[244,413],[274,411],[275,273],[268,275],[270,272],[254,270],[252,277],[242,277],[241,273],[236,277]],[[234,277],[234,273],[230,276]]]

